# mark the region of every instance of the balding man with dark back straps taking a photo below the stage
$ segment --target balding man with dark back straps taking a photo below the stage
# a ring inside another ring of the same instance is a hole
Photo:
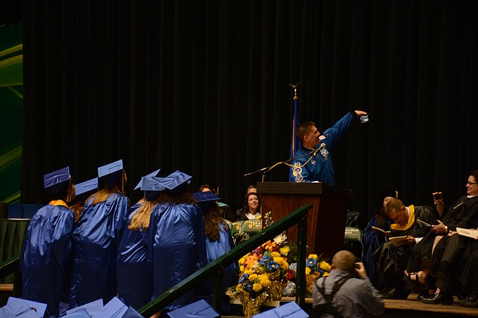
[[[330,275],[317,279],[312,298],[311,317],[378,316],[385,310],[380,292],[367,277],[364,265],[346,250],[332,257]]]

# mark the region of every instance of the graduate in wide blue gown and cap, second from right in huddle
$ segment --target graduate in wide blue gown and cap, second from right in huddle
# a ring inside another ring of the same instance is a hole
[[[208,263],[203,213],[190,192],[190,178],[176,171],[162,183],[166,190],[154,237],[152,299]],[[191,289],[166,306],[162,314],[194,301],[195,291]]]

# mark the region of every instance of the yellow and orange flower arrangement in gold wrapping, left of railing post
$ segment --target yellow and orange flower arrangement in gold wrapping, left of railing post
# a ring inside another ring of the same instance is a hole
[[[288,282],[290,248],[278,235],[239,260],[240,278],[235,288],[245,317],[258,312],[265,300],[279,300]]]

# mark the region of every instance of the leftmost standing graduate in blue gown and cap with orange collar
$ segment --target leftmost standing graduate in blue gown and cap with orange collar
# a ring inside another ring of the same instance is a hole
[[[20,260],[22,298],[47,304],[45,317],[57,317],[74,222],[66,205],[75,197],[69,168],[44,175],[44,186],[54,200],[35,213],[26,232]]]

